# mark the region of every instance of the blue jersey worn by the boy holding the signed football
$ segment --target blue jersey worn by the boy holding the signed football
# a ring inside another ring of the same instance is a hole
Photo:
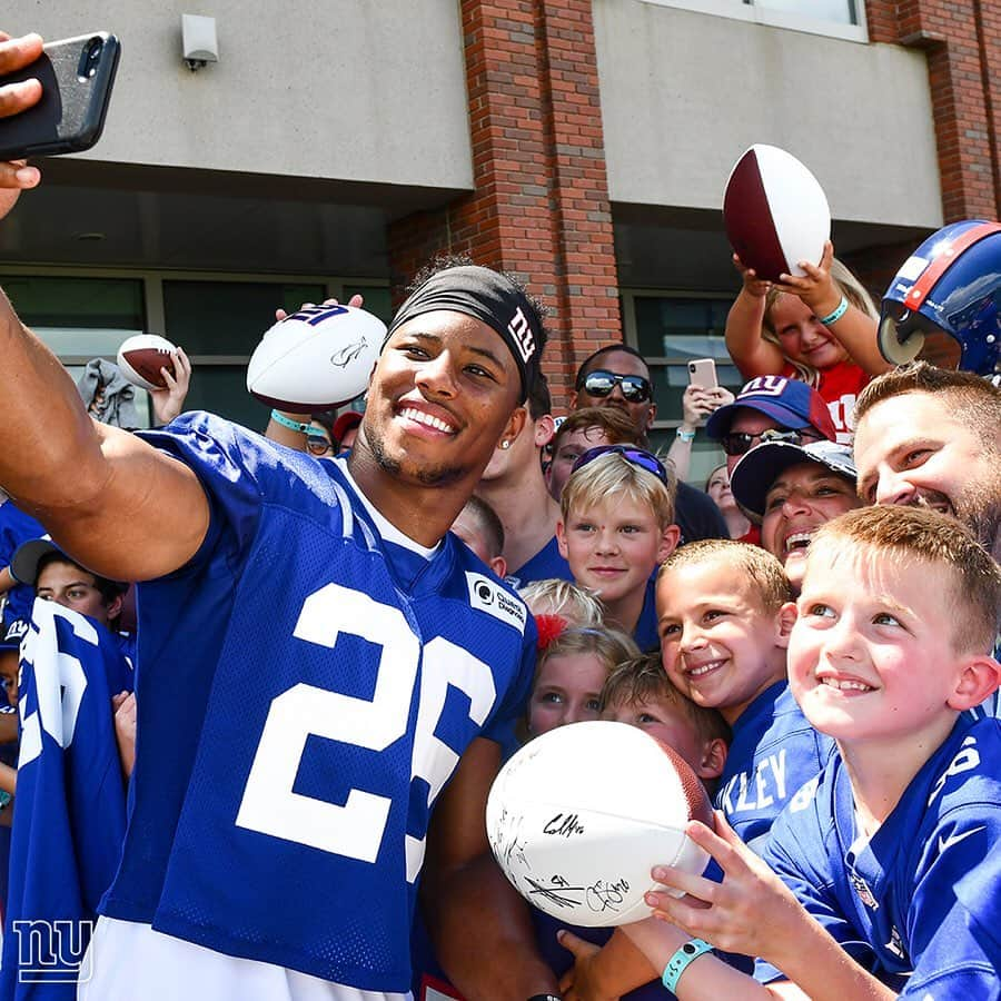
[[[772,829],[765,861],[855,960],[905,998],[997,998],[1001,722],[961,717],[865,841],[835,755]],[[959,888],[963,888],[960,890]],[[993,931],[984,934],[983,929]],[[766,963],[755,977],[781,978]]]

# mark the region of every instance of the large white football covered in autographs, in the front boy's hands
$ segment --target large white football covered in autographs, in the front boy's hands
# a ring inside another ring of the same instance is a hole
[[[553,918],[591,928],[648,918],[657,864],[701,874],[708,855],[684,833],[712,824],[702,783],[666,744],[625,723],[559,726],[500,770],[487,836],[515,889]]]

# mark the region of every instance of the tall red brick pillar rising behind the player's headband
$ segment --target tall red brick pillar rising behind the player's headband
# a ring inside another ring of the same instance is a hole
[[[622,339],[591,0],[462,0],[474,191],[389,228],[406,280],[436,254],[524,276],[552,309],[557,412],[577,365]]]

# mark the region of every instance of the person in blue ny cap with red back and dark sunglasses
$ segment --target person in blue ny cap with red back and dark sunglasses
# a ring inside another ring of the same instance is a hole
[[[741,456],[763,440],[806,445],[838,434],[823,397],[799,379],[759,376],[741,389],[736,399],[720,407],[705,425],[705,434],[726,453],[726,472],[733,475]]]

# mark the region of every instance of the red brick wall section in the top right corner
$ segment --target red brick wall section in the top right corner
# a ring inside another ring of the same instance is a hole
[[[1001,214],[1001,3],[866,0],[875,42],[923,49],[947,222]],[[894,137],[905,140],[906,137]]]

